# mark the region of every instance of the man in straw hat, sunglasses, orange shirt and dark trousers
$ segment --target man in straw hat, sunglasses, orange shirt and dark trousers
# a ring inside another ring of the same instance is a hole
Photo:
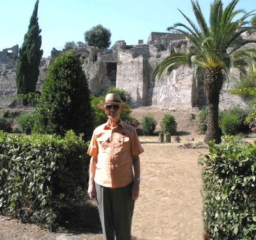
[[[103,239],[131,239],[134,200],[140,191],[140,157],[143,153],[136,130],[120,120],[127,105],[116,93],[109,93],[104,109],[108,122],[93,131],[88,148],[90,176],[88,194],[97,197]],[[132,170],[133,167],[133,170]]]

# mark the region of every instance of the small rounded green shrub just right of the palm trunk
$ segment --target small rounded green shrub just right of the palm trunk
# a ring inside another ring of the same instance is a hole
[[[220,119],[220,129],[224,135],[236,135],[241,123],[237,116],[225,114]]]

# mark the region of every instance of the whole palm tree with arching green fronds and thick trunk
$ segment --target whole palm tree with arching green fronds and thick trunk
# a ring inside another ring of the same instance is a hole
[[[251,26],[250,21],[246,20],[254,15],[255,11],[246,13],[244,10],[234,10],[238,1],[233,0],[223,8],[221,0],[214,0],[207,25],[198,1],[191,0],[198,27],[179,10],[189,26],[176,23],[173,27],[168,27],[168,30],[183,33],[190,41],[189,50],[188,52],[171,51],[170,56],[166,57],[153,72],[153,77],[160,79],[165,71],[170,74],[184,65],[195,68],[195,73],[204,70],[204,89],[208,104],[205,142],[210,140],[221,142],[218,110],[225,75],[228,76],[228,71],[232,67],[245,72],[249,63],[255,63],[256,50],[246,48],[244,45],[255,43],[256,40],[243,40],[240,37],[241,33],[255,29],[255,26]]]

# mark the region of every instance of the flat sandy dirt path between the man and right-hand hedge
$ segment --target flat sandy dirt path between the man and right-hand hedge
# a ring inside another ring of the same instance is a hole
[[[159,144],[157,137],[141,137],[141,142],[145,153],[141,154],[141,194],[132,236],[147,240],[203,239],[202,177],[197,156],[207,149]]]

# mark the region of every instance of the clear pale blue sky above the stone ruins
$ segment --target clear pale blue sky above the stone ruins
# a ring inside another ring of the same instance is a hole
[[[16,44],[21,47],[35,2],[0,0],[0,50]],[[199,3],[208,19],[212,0]],[[175,22],[185,23],[178,8],[193,19],[190,0],[40,0],[38,23],[44,57],[51,55],[52,47],[62,50],[67,41],[84,41],[84,32],[98,24],[111,31],[111,45],[118,40],[127,45],[138,40],[147,43],[151,32],[166,32]],[[236,9],[255,10],[256,1],[240,0]]]

